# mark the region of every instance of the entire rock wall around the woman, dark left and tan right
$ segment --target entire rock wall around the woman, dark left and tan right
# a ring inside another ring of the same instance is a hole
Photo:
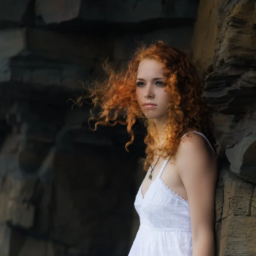
[[[68,99],[104,76],[103,59],[122,68],[137,43],[155,40],[192,52],[208,73],[216,255],[256,255],[255,1],[16,2],[0,0],[0,256],[128,254],[145,131],[138,123],[125,154],[125,127],[92,132],[90,106]]]

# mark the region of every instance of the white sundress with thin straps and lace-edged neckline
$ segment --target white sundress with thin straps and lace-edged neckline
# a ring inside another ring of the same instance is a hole
[[[202,135],[209,143],[204,134],[192,132]],[[169,158],[148,187],[144,198],[143,183],[140,185],[134,202],[140,227],[128,256],[192,256],[189,203],[161,179],[168,161]]]

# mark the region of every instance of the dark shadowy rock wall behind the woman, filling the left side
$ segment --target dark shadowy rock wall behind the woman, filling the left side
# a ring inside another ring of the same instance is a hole
[[[126,154],[125,127],[92,132],[69,99],[140,41],[189,52],[198,1],[16,2],[0,0],[0,256],[127,255],[145,131]]]

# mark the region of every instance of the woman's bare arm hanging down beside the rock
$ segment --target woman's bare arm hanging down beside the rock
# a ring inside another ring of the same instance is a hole
[[[180,143],[175,163],[189,201],[193,255],[214,256],[216,157],[204,137],[191,134]]]

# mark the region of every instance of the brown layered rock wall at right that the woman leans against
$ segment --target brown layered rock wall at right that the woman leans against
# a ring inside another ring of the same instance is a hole
[[[203,9],[207,12],[201,13]],[[233,119],[233,124],[226,125],[226,132],[221,129],[225,155],[220,162],[216,190],[216,255],[253,256],[256,254],[255,1],[201,1],[198,20],[211,24],[208,32],[203,30],[200,34],[202,25],[196,23],[193,36],[194,59],[201,61],[202,56],[209,72],[203,97],[218,111],[217,125],[223,124],[220,115]],[[205,40],[209,42],[208,49]]]

